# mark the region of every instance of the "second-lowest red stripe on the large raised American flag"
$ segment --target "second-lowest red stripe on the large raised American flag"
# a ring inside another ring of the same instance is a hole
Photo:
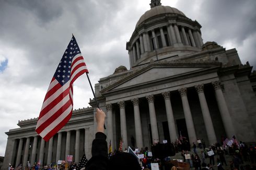
[[[56,120],[63,112],[65,112],[67,110],[67,108],[71,105],[70,101],[67,101],[57,112],[53,113],[51,115],[51,117],[49,117],[47,120],[45,120],[44,123],[42,123],[37,129],[36,131],[38,133],[41,133],[46,127],[48,127],[49,125],[51,125],[54,120]]]

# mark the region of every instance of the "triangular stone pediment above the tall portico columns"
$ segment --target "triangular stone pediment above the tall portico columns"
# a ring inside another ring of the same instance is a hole
[[[112,84],[107,89],[102,90],[102,93],[122,90],[130,87],[143,86],[156,81],[164,79],[171,79],[182,77],[185,75],[196,74],[197,72],[205,72],[206,70],[219,67],[216,63],[212,65],[195,65],[195,64],[184,64],[184,65],[153,65],[144,69],[138,70],[134,74],[120,80],[117,83]]]

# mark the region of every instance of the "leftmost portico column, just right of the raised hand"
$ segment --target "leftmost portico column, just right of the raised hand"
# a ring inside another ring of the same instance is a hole
[[[114,143],[113,138],[113,116],[112,116],[112,104],[107,104],[107,120],[108,120],[108,139],[111,140],[111,143]],[[109,143],[109,140],[107,143]],[[112,144],[113,149],[113,144]]]

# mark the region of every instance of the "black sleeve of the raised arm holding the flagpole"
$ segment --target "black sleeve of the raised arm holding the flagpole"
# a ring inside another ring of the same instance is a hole
[[[91,147],[91,159],[86,164],[86,170],[105,170],[108,165],[107,136],[102,132],[97,132]]]

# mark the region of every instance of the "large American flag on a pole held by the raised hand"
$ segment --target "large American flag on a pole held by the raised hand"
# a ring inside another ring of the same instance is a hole
[[[85,72],[88,70],[73,35],[51,80],[38,117],[36,132],[45,141],[71,118],[73,82]]]

